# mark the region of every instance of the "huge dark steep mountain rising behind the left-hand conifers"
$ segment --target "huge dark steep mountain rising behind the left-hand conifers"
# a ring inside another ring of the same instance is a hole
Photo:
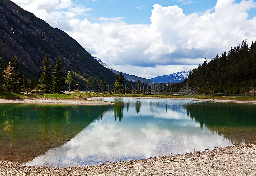
[[[0,1],[0,47],[5,64],[17,56],[20,71],[28,78],[38,79],[42,59],[48,53],[51,65],[61,57],[65,72],[92,76],[96,82],[104,74],[106,82],[114,82],[114,73],[99,64],[76,40],[10,0]]]

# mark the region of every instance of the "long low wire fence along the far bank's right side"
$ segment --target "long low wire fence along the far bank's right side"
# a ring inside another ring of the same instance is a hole
[[[190,93],[190,92],[168,92],[161,90],[151,90],[151,94],[155,95],[201,95],[201,96],[254,96],[256,94],[226,94],[226,93]]]

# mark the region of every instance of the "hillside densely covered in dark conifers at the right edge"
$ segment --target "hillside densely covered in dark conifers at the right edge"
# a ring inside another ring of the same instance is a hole
[[[195,92],[206,93],[254,93],[256,87],[256,42],[251,46],[247,41],[229,49],[228,52],[212,58],[207,63],[193,69],[183,83],[174,87],[184,87]],[[186,90],[186,89],[184,89]]]

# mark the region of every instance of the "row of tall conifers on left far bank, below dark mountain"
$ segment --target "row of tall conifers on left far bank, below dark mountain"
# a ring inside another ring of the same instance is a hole
[[[4,67],[3,58],[0,58],[0,92],[24,92],[27,93],[31,89],[31,79],[24,78],[19,72],[19,61],[15,56]],[[65,77],[64,67],[62,67],[61,59],[57,58],[54,67],[50,66],[49,55],[46,54],[41,67],[41,72],[36,90],[43,90],[46,93],[55,92],[62,93],[66,90],[65,84],[69,85],[72,82],[71,72],[69,71]]]

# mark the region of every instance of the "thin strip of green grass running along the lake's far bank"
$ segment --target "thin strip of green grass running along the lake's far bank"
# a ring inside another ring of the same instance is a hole
[[[66,93],[66,94],[44,94],[33,95],[23,93],[0,93],[0,99],[39,99],[39,98],[55,98],[55,99],[86,99],[90,97],[154,97],[154,98],[197,98],[197,99],[217,99],[217,100],[240,100],[240,101],[256,101],[256,97],[229,97],[229,96],[176,96],[176,95],[143,95],[143,94],[101,94],[101,93]]]

